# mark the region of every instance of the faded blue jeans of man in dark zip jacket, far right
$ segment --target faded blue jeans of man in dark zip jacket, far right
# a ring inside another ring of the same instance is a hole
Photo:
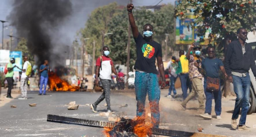
[[[246,115],[249,109],[249,95],[250,95],[251,80],[248,73],[246,77],[238,77],[238,76],[232,75],[232,78],[233,78],[234,91],[236,94],[235,108],[233,111],[232,119],[238,119],[240,108],[242,108],[241,117],[238,125],[243,126],[245,125]]]

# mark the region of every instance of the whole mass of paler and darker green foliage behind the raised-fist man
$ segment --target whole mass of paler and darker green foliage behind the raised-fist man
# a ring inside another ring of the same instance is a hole
[[[133,10],[133,16],[138,26],[140,34],[144,24],[151,24],[154,27],[153,39],[160,44],[165,39],[165,34],[172,34],[174,30],[174,6],[171,4],[164,5],[159,10],[149,10],[144,7],[136,7]],[[118,6],[116,3],[99,7],[95,9],[85,28],[81,29],[80,33],[83,38],[90,38],[86,41],[86,50],[92,54],[92,43],[96,41],[96,58],[101,55],[102,30],[105,33],[112,32],[112,35],[105,37],[105,45],[110,47],[111,58],[121,64],[126,64],[127,59],[127,41],[128,41],[128,14],[127,9]],[[174,46],[174,37],[170,37],[168,45]],[[165,50],[164,46],[162,47]],[[131,34],[130,47],[130,68],[136,60],[135,41]]]

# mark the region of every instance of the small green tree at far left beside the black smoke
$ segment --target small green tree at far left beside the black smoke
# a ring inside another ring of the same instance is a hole
[[[15,51],[22,51],[22,56],[27,55],[29,62],[33,65],[35,64],[34,56],[27,49],[27,39],[21,38],[18,42],[18,46],[15,48]],[[24,63],[24,61],[22,61]]]

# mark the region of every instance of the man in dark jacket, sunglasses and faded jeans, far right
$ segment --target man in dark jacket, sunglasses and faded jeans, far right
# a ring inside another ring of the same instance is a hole
[[[249,94],[251,80],[249,70],[256,76],[256,65],[253,56],[253,50],[245,41],[248,32],[244,28],[237,30],[238,40],[232,41],[227,49],[225,56],[225,69],[229,76],[229,82],[233,83],[236,94],[235,108],[231,118],[231,126],[237,128],[236,119],[241,111],[241,117],[238,124],[238,130],[251,131],[245,126],[246,115],[249,109]]]

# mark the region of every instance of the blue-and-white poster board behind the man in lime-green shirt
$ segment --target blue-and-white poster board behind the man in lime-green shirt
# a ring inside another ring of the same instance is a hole
[[[16,65],[22,69],[22,51],[11,51],[10,58],[12,57],[15,58],[15,63],[13,65]],[[21,70],[19,70],[17,67],[14,67],[13,71],[21,72]]]

